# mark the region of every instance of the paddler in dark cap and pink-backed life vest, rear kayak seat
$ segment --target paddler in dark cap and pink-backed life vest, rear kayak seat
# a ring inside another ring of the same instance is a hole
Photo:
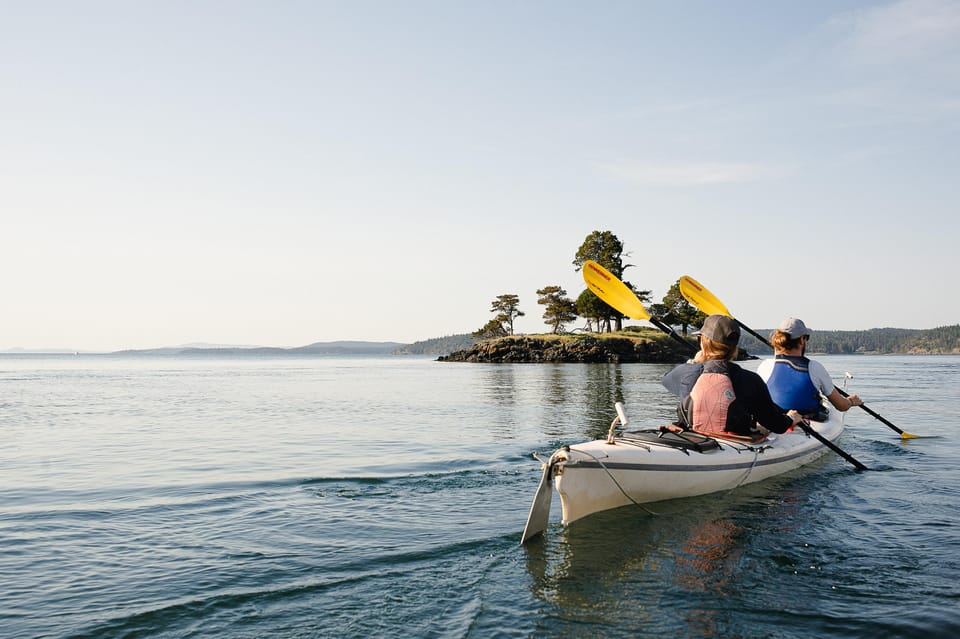
[[[694,333],[700,350],[693,360],[663,376],[664,387],[680,398],[677,422],[670,430],[758,438],[785,433],[803,421],[796,410],[784,412],[759,375],[733,363],[740,327],[726,315],[710,315]]]

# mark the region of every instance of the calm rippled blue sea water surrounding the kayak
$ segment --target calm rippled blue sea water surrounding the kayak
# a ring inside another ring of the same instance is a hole
[[[4,637],[960,636],[960,357],[823,357],[844,449],[519,545],[669,367],[0,358]]]

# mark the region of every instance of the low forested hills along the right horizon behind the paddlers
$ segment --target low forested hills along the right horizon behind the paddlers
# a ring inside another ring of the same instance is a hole
[[[754,329],[768,337],[772,329]],[[756,355],[772,351],[757,338],[744,331],[740,346]],[[866,331],[814,331],[810,339],[811,353],[844,354],[960,354],[960,324],[929,329],[871,328]]]

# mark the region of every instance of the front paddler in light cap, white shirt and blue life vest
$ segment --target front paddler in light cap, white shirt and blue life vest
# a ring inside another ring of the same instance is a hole
[[[767,383],[773,401],[818,421],[825,419],[821,395],[839,411],[863,404],[856,395],[841,395],[823,364],[806,356],[808,341],[810,329],[796,317],[783,320],[770,335],[773,359],[763,360],[757,374]]]

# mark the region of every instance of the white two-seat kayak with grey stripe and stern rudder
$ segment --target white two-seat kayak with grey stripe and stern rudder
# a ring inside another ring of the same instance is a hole
[[[546,530],[554,487],[567,525],[629,504],[732,490],[809,464],[830,450],[799,428],[757,441],[659,430],[616,434],[618,423],[627,424],[621,404],[617,413],[606,438],[563,446],[543,464],[520,543]],[[843,433],[843,415],[830,407],[826,421],[811,421],[810,429],[832,443]]]

